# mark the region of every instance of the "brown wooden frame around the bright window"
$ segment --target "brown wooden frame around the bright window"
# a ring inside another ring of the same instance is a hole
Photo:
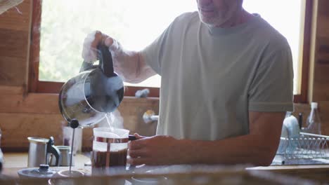
[[[311,48],[311,21],[313,11],[313,0],[305,0],[304,12],[304,41],[302,51],[302,78],[300,94],[294,95],[295,103],[307,103],[307,91],[309,83],[309,57]],[[29,93],[59,93],[64,83],[53,81],[39,81],[39,51],[40,51],[40,32],[41,26],[41,4],[42,0],[33,0],[32,2],[32,27],[31,27],[31,46],[29,61]],[[134,97],[136,90],[148,88],[149,97],[160,97],[160,88],[125,86],[124,96]]]

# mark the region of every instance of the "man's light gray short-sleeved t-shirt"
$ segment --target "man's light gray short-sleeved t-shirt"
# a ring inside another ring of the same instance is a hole
[[[157,135],[246,135],[248,111],[293,110],[290,46],[259,15],[219,28],[184,13],[141,53],[162,77]]]

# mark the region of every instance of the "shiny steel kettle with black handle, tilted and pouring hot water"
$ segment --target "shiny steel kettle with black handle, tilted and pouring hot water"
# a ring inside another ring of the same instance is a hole
[[[60,112],[66,121],[87,127],[115,111],[124,97],[124,84],[113,71],[107,46],[98,46],[99,64],[84,61],[80,73],[67,81],[59,94]]]

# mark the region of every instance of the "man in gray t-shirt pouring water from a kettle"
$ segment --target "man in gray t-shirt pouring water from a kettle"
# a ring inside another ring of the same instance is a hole
[[[162,76],[157,135],[136,134],[128,162],[270,165],[293,109],[288,42],[243,0],[197,4],[139,52],[101,32],[85,41],[85,60],[95,60],[98,44],[109,46],[124,81]]]

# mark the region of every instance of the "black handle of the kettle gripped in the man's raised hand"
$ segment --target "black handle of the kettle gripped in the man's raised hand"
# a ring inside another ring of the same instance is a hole
[[[112,76],[117,76],[114,73],[112,55],[110,53],[110,50],[108,50],[108,46],[98,45],[97,49],[99,58],[98,67],[103,71],[103,74],[105,74],[105,76],[107,76],[108,78]]]

